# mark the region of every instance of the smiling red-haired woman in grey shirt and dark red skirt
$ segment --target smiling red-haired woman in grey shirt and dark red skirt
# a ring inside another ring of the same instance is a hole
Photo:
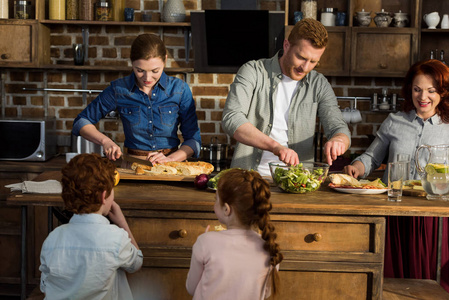
[[[449,67],[438,60],[414,64],[405,76],[402,88],[403,110],[390,114],[376,133],[366,152],[357,157],[345,172],[353,177],[366,177],[385,158],[397,154],[411,157],[420,145],[449,143]],[[420,161],[425,165],[426,161]],[[387,171],[383,181],[387,181]],[[414,167],[410,179],[421,179]],[[442,251],[442,286],[449,291],[447,218],[444,218]],[[385,277],[436,278],[438,218],[388,217],[385,245]]]

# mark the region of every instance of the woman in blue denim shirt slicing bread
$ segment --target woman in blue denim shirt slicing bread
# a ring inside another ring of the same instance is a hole
[[[113,81],[92,101],[76,117],[72,133],[102,145],[109,159],[118,159],[120,147],[94,126],[117,110],[129,154],[155,163],[198,157],[201,137],[195,102],[187,83],[165,74],[167,50],[162,40],[153,34],[139,35],[130,58],[133,74]]]

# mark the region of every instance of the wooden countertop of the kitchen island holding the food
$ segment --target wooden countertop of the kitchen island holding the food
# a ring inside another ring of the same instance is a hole
[[[60,178],[59,171],[44,172],[36,181]],[[402,202],[387,201],[386,194],[338,193],[322,186],[309,194],[288,194],[272,188],[273,210],[277,214],[325,214],[369,216],[449,216],[449,202],[403,196]],[[213,212],[215,194],[195,189],[192,182],[122,180],[115,187],[115,200],[124,209]],[[9,205],[62,206],[58,194],[11,193]]]

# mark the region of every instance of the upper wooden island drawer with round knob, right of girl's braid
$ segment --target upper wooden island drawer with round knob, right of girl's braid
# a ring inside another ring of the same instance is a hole
[[[345,216],[272,217],[286,258],[372,261],[383,257],[385,219]]]

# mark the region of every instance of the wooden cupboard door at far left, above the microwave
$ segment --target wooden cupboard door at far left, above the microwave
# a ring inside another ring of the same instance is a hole
[[[31,25],[0,26],[1,63],[31,62],[32,61],[31,49],[32,49]]]

